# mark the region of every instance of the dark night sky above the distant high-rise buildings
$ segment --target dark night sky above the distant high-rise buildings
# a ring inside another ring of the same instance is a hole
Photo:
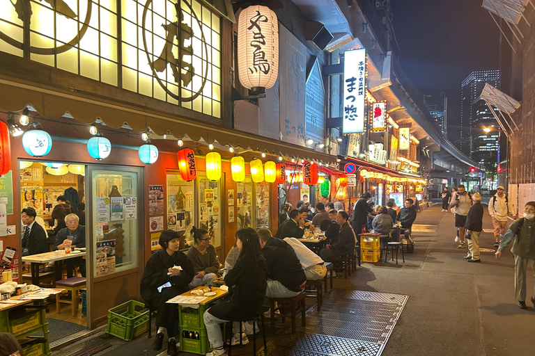
[[[400,62],[421,95],[448,97],[448,126],[460,125],[460,83],[476,70],[499,69],[499,29],[483,0],[391,0]],[[449,140],[459,128],[448,127]]]

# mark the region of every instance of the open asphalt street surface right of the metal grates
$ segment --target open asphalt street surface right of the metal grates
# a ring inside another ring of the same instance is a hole
[[[506,252],[498,260],[493,252],[482,252],[481,264],[468,264],[463,258],[467,250],[453,242],[453,215],[441,212],[440,204],[419,213],[415,224],[421,232],[414,232],[416,248],[413,254],[405,254],[406,264],[401,256],[398,265],[391,261],[362,264],[350,279],[334,280],[334,289],[409,296],[382,355],[533,355],[535,309],[530,302],[527,310],[516,307],[512,254]],[[487,212],[483,228],[492,228]],[[482,248],[494,250],[491,232],[483,232],[481,241]],[[534,279],[528,281],[532,291]],[[275,334],[284,331],[277,327]],[[269,327],[267,334],[272,335]],[[138,337],[125,343],[110,337],[112,347],[97,355],[157,355],[150,348],[152,340]],[[261,345],[261,337],[258,341]],[[249,343],[235,350],[235,355],[251,351]],[[165,350],[161,355],[166,355]]]

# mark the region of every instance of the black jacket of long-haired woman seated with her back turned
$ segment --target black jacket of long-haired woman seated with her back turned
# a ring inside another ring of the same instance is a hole
[[[229,296],[211,307],[210,314],[223,320],[252,320],[261,313],[267,288],[264,259],[255,261],[252,256],[238,257],[225,276],[225,284]]]

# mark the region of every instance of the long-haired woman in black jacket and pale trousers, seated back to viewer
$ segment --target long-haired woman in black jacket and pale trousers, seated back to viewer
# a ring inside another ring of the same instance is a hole
[[[240,257],[234,267],[225,276],[225,284],[230,293],[227,300],[214,305],[204,313],[204,324],[208,340],[213,350],[207,356],[226,355],[219,324],[226,321],[249,321],[261,313],[267,288],[267,268],[260,252],[260,241],[254,229],[246,227],[236,232],[236,245]],[[238,331],[239,324],[233,324],[233,332]],[[247,343],[245,333],[242,342]],[[240,334],[235,333],[232,341],[240,343]]]

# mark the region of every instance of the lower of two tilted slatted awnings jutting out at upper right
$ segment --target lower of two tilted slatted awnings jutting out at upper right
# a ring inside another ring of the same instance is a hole
[[[491,86],[489,83],[486,83],[483,87],[480,97],[481,99],[485,100],[499,126],[507,135],[509,135],[509,132],[515,131],[515,129],[518,130],[518,126],[515,123],[515,120],[513,120],[511,117],[511,114],[520,108],[520,102],[516,101],[509,95],[506,95],[506,93],[502,92],[501,90]],[[493,107],[499,110],[500,116],[495,113]],[[504,113],[509,116],[509,120],[506,120]],[[513,123],[514,128],[511,126],[511,124],[509,124],[509,121]]]

